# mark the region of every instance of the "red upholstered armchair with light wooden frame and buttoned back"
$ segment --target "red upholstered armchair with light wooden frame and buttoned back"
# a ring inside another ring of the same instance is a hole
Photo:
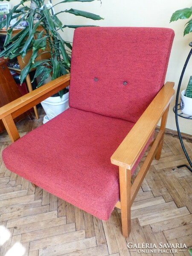
[[[3,151],[6,167],[102,220],[108,220],[115,206],[121,208],[127,237],[131,204],[151,161],[161,154],[174,94],[172,82],[163,86],[173,38],[173,30],[166,28],[76,29],[71,74],[0,108],[15,141]],[[69,81],[70,108],[19,139],[12,118]]]

